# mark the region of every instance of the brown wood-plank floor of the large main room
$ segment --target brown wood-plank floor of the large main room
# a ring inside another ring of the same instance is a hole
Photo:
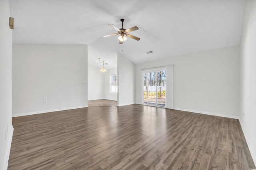
[[[238,119],[129,105],[15,117],[8,170],[248,170]]]

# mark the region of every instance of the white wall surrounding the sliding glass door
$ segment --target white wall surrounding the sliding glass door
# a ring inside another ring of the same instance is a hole
[[[136,103],[142,103],[141,69],[174,64],[174,109],[238,118],[239,53],[234,46],[137,64]]]

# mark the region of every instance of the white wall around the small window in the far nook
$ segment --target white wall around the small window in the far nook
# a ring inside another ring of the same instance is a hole
[[[104,74],[104,99],[117,101],[117,93],[110,93],[110,74],[117,74],[117,68],[108,69]]]

